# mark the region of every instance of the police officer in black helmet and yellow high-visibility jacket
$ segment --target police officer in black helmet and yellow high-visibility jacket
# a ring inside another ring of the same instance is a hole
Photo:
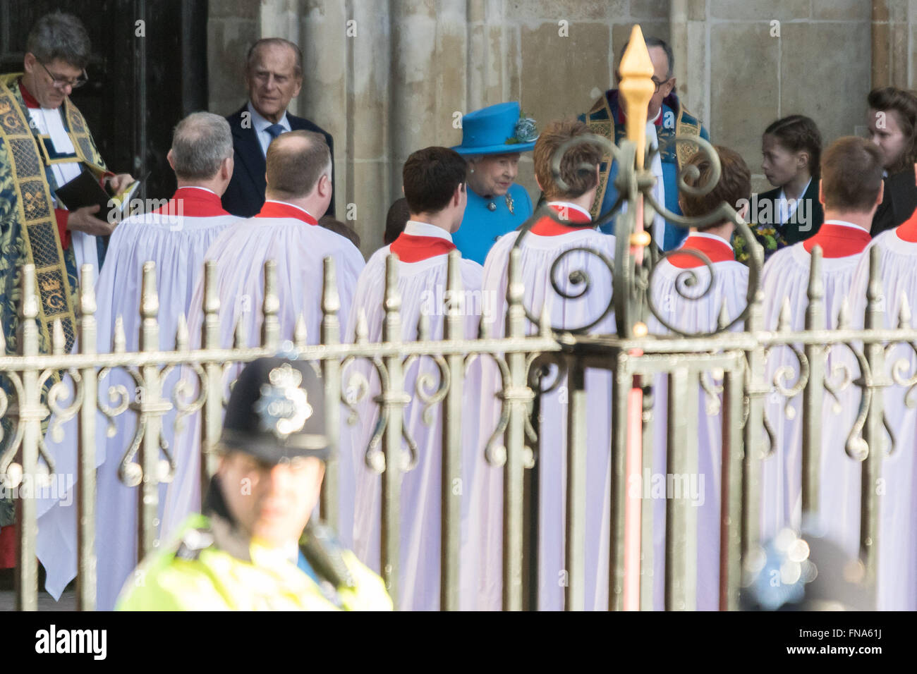
[[[116,608],[392,610],[382,580],[310,519],[328,458],[324,408],[307,363],[249,363],[226,406],[204,514],[140,564]]]

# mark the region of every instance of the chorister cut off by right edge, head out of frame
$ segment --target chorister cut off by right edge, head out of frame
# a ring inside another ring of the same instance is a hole
[[[885,325],[879,327],[896,327],[904,302],[911,316],[917,311],[917,214],[872,239],[859,260],[849,299],[856,327],[864,325],[869,251],[873,247],[879,250],[879,282],[885,300]],[[917,358],[907,345],[896,344],[886,352],[886,376],[891,384],[883,389],[882,404],[895,446],[889,446],[889,435],[885,434],[881,484],[876,486],[879,611],[917,611],[917,408],[913,406],[915,392],[892,379],[894,366],[900,360],[904,368],[898,372],[899,379],[907,379],[917,368]],[[854,365],[855,377],[857,372]],[[858,410],[858,389],[854,398],[853,409]]]

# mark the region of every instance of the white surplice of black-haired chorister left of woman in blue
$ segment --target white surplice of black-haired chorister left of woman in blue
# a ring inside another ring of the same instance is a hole
[[[451,238],[439,227],[426,223],[409,221],[404,234],[414,237],[432,237],[435,240]],[[367,318],[370,342],[382,340],[382,324],[385,319],[383,301],[385,295],[385,264],[392,247],[386,246],[373,253],[360,273],[357,292],[350,310],[350,337],[360,313]],[[418,256],[419,257],[419,256]],[[481,313],[492,311],[492,305],[482,302],[481,265],[472,260],[461,260],[462,314],[464,335],[473,339],[477,336]],[[437,254],[424,260],[399,261],[398,290],[401,293],[401,320],[403,341],[417,338],[417,326],[421,315],[429,318],[430,338],[443,337],[445,320],[444,301],[457,302],[447,293],[447,255]],[[341,472],[352,470],[355,479],[355,503],[353,545],[357,556],[371,569],[378,572],[380,566],[381,531],[381,477],[366,464],[366,451],[379,419],[379,405],[373,402],[380,392],[378,375],[364,359],[356,361],[344,372],[344,382],[358,373],[371,382],[370,392],[357,406],[359,414],[355,425],[342,424],[341,430]],[[454,375],[453,375],[454,376]],[[439,368],[429,358],[417,359],[404,372],[404,391],[412,396],[412,402],[404,407],[403,424],[414,439],[417,447],[417,464],[403,473],[401,486],[401,554],[399,556],[398,608],[402,611],[436,611],[439,609],[440,578],[440,514],[442,481],[442,403],[430,408],[430,423],[423,415],[425,403],[417,397],[416,386],[419,377],[429,377],[436,382],[425,386],[426,393],[435,390],[441,382]],[[477,401],[479,392],[466,382],[466,399]],[[466,404],[467,408],[468,405]],[[463,440],[467,447],[473,447],[475,439],[473,424],[464,416],[462,419]],[[381,445],[378,447],[383,448]],[[403,445],[407,451],[406,444]],[[352,465],[346,465],[349,459]],[[463,466],[468,462],[463,461]],[[467,470],[464,471],[467,473]],[[468,480],[463,474],[462,481]],[[346,500],[342,494],[342,500]],[[463,506],[467,500],[463,502]],[[463,514],[466,512],[463,507]],[[462,517],[462,539],[467,539],[465,517]]]

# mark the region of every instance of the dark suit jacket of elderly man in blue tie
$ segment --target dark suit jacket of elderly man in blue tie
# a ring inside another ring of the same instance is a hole
[[[223,207],[232,215],[239,217],[251,217],[256,215],[261,206],[264,205],[264,190],[267,182],[264,179],[266,164],[264,154],[261,152],[261,145],[258,142],[258,136],[255,133],[254,125],[248,128],[242,128],[242,113],[248,112],[248,104],[243,105],[233,115],[226,117],[229,127],[232,129],[232,144],[235,149],[236,167],[233,170],[232,180],[226,187],[226,193],[223,194]],[[325,136],[328,148],[331,149],[331,204],[328,206],[326,215],[335,215],[335,172],[334,157],[335,146],[331,134],[322,128],[315,126],[308,119],[297,117],[287,113],[287,119],[290,120],[290,128],[293,131],[303,129],[305,131],[318,131]]]

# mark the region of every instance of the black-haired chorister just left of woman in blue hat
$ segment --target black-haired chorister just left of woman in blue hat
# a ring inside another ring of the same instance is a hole
[[[458,304],[465,316],[466,339],[477,335],[481,311],[492,307],[481,303],[481,265],[461,260],[462,293],[452,298],[447,293],[447,256],[456,249],[452,233],[461,225],[465,213],[466,164],[461,156],[447,148],[426,148],[414,152],[403,168],[404,196],[411,219],[390,246],[373,253],[359,275],[357,291],[350,309],[350,337],[359,315],[365,315],[370,342],[382,340],[385,295],[385,265],[389,253],[398,256],[398,291],[401,293],[402,339],[417,338],[422,315],[429,320],[430,338],[443,337],[447,311],[446,301]],[[379,569],[381,531],[381,479],[366,463],[366,451],[379,418],[377,403],[378,377],[371,376],[370,366],[357,361],[351,366],[361,370],[372,382],[370,394],[358,407],[355,425],[344,425],[341,441],[341,471],[348,470],[352,460],[356,477],[354,503],[354,552],[370,568]],[[344,372],[348,381],[350,372]],[[402,611],[436,611],[439,609],[440,565],[440,486],[442,481],[442,405],[431,408],[429,423],[423,419],[425,404],[417,398],[418,377],[439,380],[439,369],[431,359],[417,359],[404,373],[404,391],[412,402],[404,407],[404,427],[414,438],[417,464],[403,474],[401,487],[401,555],[398,560],[398,608]],[[478,400],[479,392],[465,388],[466,395]],[[473,436],[469,419],[463,420],[464,437]],[[467,443],[471,445],[471,443]],[[462,536],[465,539],[467,536]]]

